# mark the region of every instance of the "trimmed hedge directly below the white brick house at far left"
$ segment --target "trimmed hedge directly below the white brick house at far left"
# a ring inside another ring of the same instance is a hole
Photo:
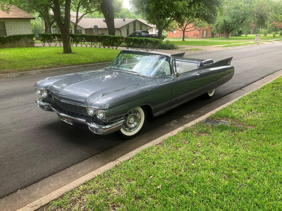
[[[0,44],[5,45],[5,44],[12,44],[16,43],[16,46],[19,47],[21,46],[21,43],[23,41],[30,41],[32,45],[35,44],[35,34],[16,34],[16,35],[10,35],[10,36],[0,36]]]

